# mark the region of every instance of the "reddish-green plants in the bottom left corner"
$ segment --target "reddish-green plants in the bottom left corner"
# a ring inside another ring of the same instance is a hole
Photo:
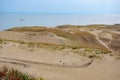
[[[0,80],[37,80],[37,78],[4,66],[0,68]],[[39,78],[39,80],[43,80],[43,78]]]

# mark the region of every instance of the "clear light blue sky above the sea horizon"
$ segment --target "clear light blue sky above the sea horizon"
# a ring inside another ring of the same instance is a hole
[[[0,0],[0,12],[120,14],[120,0]]]

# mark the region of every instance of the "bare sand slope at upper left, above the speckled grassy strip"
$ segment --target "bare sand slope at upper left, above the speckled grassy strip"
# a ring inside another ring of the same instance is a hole
[[[67,44],[68,39],[58,37],[50,32],[15,32],[15,31],[0,31],[0,37],[8,40],[21,40],[25,42],[47,42],[52,44]]]

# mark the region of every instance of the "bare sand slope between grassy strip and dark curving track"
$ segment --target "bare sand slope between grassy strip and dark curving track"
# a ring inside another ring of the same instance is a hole
[[[55,65],[75,65],[80,66],[90,59],[68,52],[68,50],[51,50],[45,48],[28,48],[26,45],[14,43],[3,44],[0,57],[29,60]],[[32,51],[31,51],[32,49]]]

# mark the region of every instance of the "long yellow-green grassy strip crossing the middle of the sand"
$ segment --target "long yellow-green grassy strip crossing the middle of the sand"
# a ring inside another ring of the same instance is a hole
[[[24,42],[24,41],[16,41],[16,40],[2,40],[4,42],[13,42],[19,43],[23,45],[27,45],[30,48],[30,51],[34,51],[34,47],[37,48],[47,48],[51,50],[64,50],[70,49],[70,52],[77,53],[81,56],[88,57],[88,58],[99,58],[101,54],[110,53],[108,51],[103,51],[100,49],[93,49],[93,48],[84,48],[77,45],[60,45],[60,44],[51,44],[51,43],[37,43],[37,42]]]

